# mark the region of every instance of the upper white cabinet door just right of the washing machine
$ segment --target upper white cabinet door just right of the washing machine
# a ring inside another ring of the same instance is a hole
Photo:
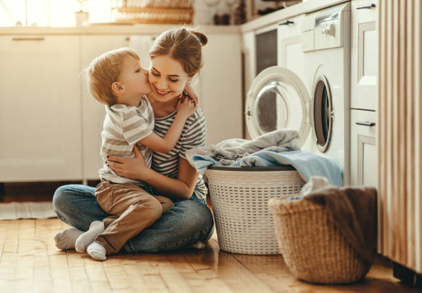
[[[351,108],[376,110],[378,1],[352,1]]]

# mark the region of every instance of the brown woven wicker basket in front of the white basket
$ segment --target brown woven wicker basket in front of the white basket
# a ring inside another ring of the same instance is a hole
[[[365,263],[321,205],[306,199],[271,199],[277,239],[294,276],[311,283],[351,283],[365,277]]]

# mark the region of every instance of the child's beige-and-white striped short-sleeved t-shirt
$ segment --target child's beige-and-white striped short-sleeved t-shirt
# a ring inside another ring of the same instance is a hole
[[[117,175],[105,162],[108,154],[133,158],[133,146],[135,143],[148,137],[153,129],[154,112],[146,97],[141,98],[138,107],[123,104],[114,104],[111,107],[106,105],[106,118],[103,123],[103,132],[101,132],[102,145],[100,154],[104,164],[103,168],[99,170],[100,179],[114,183],[134,183],[138,186],[144,186],[145,183],[143,181]],[[150,167],[152,150],[141,143],[138,143],[137,147],[143,155],[145,163]]]

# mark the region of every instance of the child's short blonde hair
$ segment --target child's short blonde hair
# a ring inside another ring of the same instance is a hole
[[[112,106],[117,102],[112,92],[112,83],[119,78],[121,62],[126,56],[139,60],[134,50],[119,48],[101,54],[88,65],[88,89],[100,103]]]

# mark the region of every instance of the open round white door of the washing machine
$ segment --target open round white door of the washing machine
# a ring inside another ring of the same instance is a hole
[[[303,81],[291,70],[272,66],[261,71],[250,86],[245,120],[252,139],[261,134],[292,128],[299,130],[301,145],[308,137],[310,96]]]

